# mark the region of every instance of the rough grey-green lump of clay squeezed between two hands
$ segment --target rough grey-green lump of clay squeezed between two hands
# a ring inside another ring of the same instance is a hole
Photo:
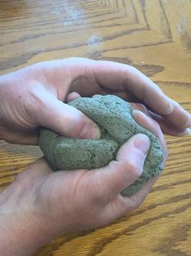
[[[69,103],[95,121],[101,139],[70,139],[52,130],[41,130],[40,147],[54,170],[94,169],[114,160],[119,147],[132,135],[142,133],[150,138],[150,151],[143,174],[121,194],[132,196],[151,177],[161,172],[163,149],[155,135],[132,118],[130,105],[115,95],[79,98]]]

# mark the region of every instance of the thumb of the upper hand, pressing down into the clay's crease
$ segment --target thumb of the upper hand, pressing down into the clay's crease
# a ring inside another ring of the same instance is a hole
[[[49,97],[48,104],[45,105],[37,111],[37,117],[35,117],[39,126],[50,128],[60,135],[72,138],[98,139],[100,137],[98,126],[78,109],[54,97]]]

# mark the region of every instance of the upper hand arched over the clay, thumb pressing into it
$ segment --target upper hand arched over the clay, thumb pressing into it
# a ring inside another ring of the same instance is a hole
[[[81,96],[115,94],[146,104],[170,135],[182,135],[191,126],[189,113],[136,68],[70,58],[34,64],[0,77],[0,139],[37,144],[39,126],[70,137],[98,138],[98,127],[64,104],[72,91]]]

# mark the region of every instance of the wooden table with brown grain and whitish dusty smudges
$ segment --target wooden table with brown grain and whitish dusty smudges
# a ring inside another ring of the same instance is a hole
[[[115,60],[139,68],[191,111],[189,0],[1,0],[0,38],[1,74],[69,56]],[[139,209],[59,237],[35,255],[191,255],[191,137],[166,138],[167,166]],[[1,142],[1,190],[38,157],[37,147]]]

